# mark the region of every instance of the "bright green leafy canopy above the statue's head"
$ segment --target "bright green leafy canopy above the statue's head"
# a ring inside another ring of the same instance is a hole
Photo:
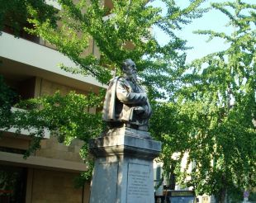
[[[41,11],[27,4],[29,21],[34,28],[26,31],[48,40],[77,65],[62,68],[72,73],[91,74],[107,83],[111,69],[116,68],[118,72],[122,61],[130,58],[145,78],[152,97],[163,97],[159,87],[172,92],[176,83],[173,85],[171,81],[177,80],[183,68],[183,50],[187,48],[174,31],[204,12],[198,8],[202,0],[193,1],[183,10],[175,1],[162,1],[168,9],[166,14],[160,7],[152,6],[154,1],[115,0],[111,9],[98,1],[58,2],[62,7],[57,15],[61,22],[58,26],[48,20],[39,21]],[[169,36],[166,45],[159,45],[150,31],[152,26],[158,26]],[[92,39],[100,50],[100,58],[95,56],[94,48],[92,54],[84,54]]]

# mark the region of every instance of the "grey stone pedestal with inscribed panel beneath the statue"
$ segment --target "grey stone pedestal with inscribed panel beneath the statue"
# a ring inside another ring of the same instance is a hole
[[[91,140],[96,162],[90,203],[154,203],[153,159],[161,143],[140,133],[145,135],[126,128]]]

